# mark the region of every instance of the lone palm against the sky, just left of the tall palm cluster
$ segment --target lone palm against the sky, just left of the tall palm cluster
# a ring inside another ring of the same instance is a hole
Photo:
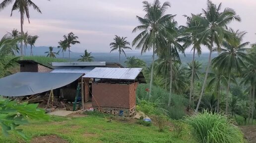
[[[124,53],[125,56],[126,56],[126,52],[124,51],[124,49],[130,49],[131,50],[131,48],[127,46],[127,45],[130,45],[130,43],[126,40],[126,38],[127,37],[123,37],[123,36],[122,37],[115,36],[114,42],[111,42],[109,44],[111,46],[110,48],[112,48],[110,53],[112,51],[118,50],[118,52],[119,52],[119,63],[120,63],[120,55],[122,53]]]

